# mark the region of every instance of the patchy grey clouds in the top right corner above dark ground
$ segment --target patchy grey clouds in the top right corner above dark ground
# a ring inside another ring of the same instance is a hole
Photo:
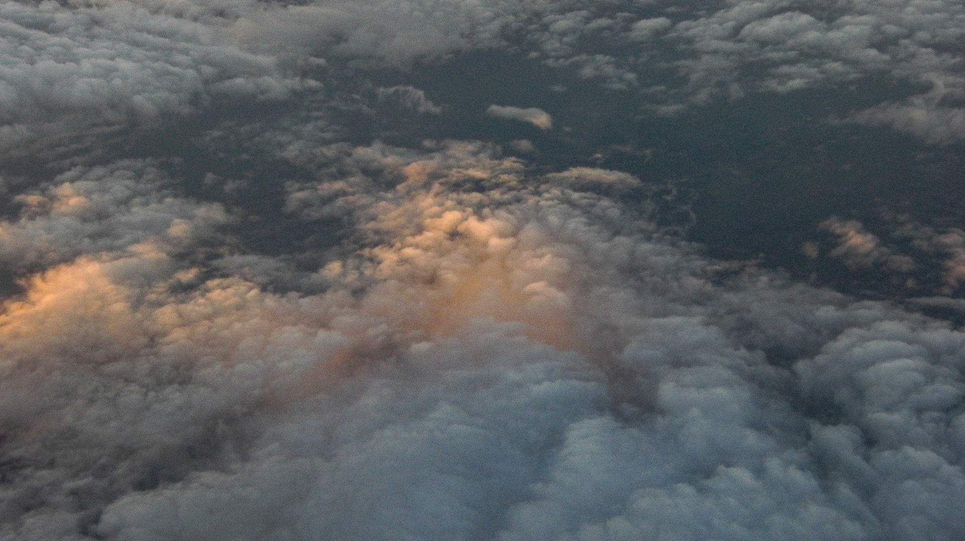
[[[952,37],[965,28],[960,6],[853,3],[835,17],[824,16],[817,3],[795,8],[780,1],[737,2],[676,22],[667,40],[690,51],[676,60],[689,81],[688,99],[705,103],[714,96],[786,93],[880,72],[897,80],[941,85],[943,93],[960,95],[960,69],[949,48]],[[907,106],[883,104],[857,119],[946,143],[958,139],[957,115],[957,108],[924,95]]]

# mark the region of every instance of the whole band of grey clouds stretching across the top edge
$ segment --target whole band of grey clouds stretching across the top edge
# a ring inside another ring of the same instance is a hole
[[[190,10],[158,4],[151,11],[11,4],[5,17],[12,37],[8,59],[15,68],[8,92],[0,93],[7,95],[0,111],[13,115],[13,121],[20,116],[31,122],[40,120],[34,118],[38,115],[49,121],[51,111],[63,107],[84,114],[93,109],[101,121],[155,118],[189,109],[208,96],[278,99],[314,92],[317,83],[292,77],[290,68],[309,58],[324,64],[318,56],[411,65],[456,51],[505,48],[529,51],[550,66],[573,69],[615,90],[665,88],[642,103],[665,114],[720,97],[828,88],[876,73],[940,84],[946,101],[962,94],[954,46],[965,33],[965,14],[956,3],[858,2],[834,16],[825,16],[819,3],[793,8],[781,1],[748,1],[716,12],[678,10],[674,18],[634,20],[632,13],[589,1],[397,5],[345,0],[324,7],[238,1]],[[657,14],[648,6],[634,10]],[[21,26],[16,23],[21,19],[38,24]],[[54,19],[56,25],[49,26]],[[86,21],[102,21],[102,26],[94,31]],[[522,28],[525,39],[508,37]],[[53,45],[62,38],[70,43],[66,50]],[[44,42],[54,47],[49,55]],[[592,43],[607,43],[613,51]],[[103,56],[107,50],[112,52]],[[650,62],[654,59],[656,64]],[[682,85],[672,83],[672,69],[685,80]],[[46,83],[28,88],[27,79]],[[959,139],[954,120],[959,113],[954,104],[918,96],[905,105],[882,104],[856,120],[946,143]]]

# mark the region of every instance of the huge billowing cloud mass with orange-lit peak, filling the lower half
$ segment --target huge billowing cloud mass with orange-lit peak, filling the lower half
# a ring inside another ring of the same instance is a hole
[[[38,194],[23,242],[61,216],[114,240],[58,257],[0,316],[3,535],[965,529],[961,333],[766,272],[715,285],[646,205],[582,191],[630,176],[532,176],[470,143],[340,155],[342,175],[290,196],[304,223],[349,228],[319,292],[212,275],[207,237],[182,234],[209,211],[121,195],[150,167]]]

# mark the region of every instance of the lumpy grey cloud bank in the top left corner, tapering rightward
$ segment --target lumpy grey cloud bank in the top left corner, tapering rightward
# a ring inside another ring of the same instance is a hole
[[[280,99],[306,85],[276,59],[237,49],[216,26],[132,4],[8,3],[0,20],[8,150],[56,130],[184,114],[219,95]]]

